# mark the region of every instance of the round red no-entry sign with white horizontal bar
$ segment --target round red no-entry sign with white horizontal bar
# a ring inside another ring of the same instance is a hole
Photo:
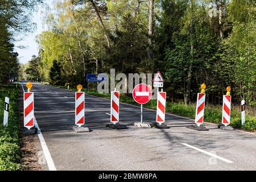
[[[133,89],[133,99],[139,104],[146,104],[152,96],[151,89],[146,84],[139,84]]]

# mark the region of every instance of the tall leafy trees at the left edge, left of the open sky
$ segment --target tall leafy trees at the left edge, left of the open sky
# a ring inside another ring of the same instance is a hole
[[[0,84],[18,78],[18,53],[14,41],[20,33],[27,34],[35,28],[30,14],[42,0],[0,0]]]

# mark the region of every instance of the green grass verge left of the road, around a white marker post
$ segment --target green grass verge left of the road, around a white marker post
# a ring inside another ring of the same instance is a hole
[[[19,88],[16,88],[15,85],[0,85],[0,171],[18,170],[20,168],[19,96]],[[10,98],[7,127],[3,126],[5,97]]]

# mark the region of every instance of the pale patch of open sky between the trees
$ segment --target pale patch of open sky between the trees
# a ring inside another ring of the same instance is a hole
[[[45,3],[52,7],[53,0],[45,0]],[[15,48],[15,51],[19,53],[19,63],[27,63],[32,57],[32,55],[38,55],[38,44],[35,42],[36,35],[39,35],[42,31],[46,30],[46,27],[43,27],[43,6],[40,7],[38,12],[35,12],[32,15],[32,21],[37,24],[37,30],[33,33],[23,36],[23,39],[19,42],[15,42],[15,46],[25,46],[26,48]]]

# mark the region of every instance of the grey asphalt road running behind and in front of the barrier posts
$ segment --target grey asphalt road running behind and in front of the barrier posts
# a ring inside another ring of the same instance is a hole
[[[119,105],[119,123],[128,129],[113,130],[106,127],[110,100],[88,94],[85,126],[93,131],[75,133],[75,92],[33,84],[35,118],[57,170],[256,170],[254,134],[208,124],[209,131],[195,131],[185,127],[191,119],[168,114],[170,129],[138,128],[140,108],[127,104]],[[144,109],[143,121],[155,114]]]

